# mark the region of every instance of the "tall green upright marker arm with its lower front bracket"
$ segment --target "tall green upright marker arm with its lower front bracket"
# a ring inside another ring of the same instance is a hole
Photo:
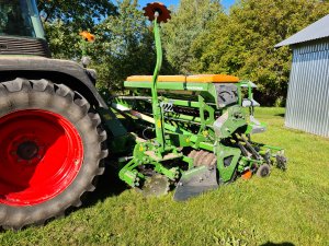
[[[192,162],[193,162],[192,159],[183,156],[183,154],[180,153],[174,145],[170,144],[170,140],[166,139],[163,113],[158,98],[158,83],[157,83],[158,75],[162,65],[160,25],[157,22],[157,15],[154,21],[154,33],[155,33],[156,49],[157,49],[157,63],[156,63],[156,68],[154,71],[152,81],[150,85],[152,119],[150,119],[145,115],[143,116],[141,114],[139,114],[139,118],[144,120],[148,119],[148,121],[155,126],[156,139],[137,142],[134,148],[133,159],[121,168],[118,173],[120,178],[132,187],[139,186],[140,179],[145,178],[145,176],[137,171],[137,167],[140,165],[150,165],[154,167],[155,172],[163,174],[166,177],[168,177],[171,180],[175,180],[180,175],[179,167],[167,168],[161,164],[161,162],[180,159],[182,161],[188,162],[189,166],[192,166]],[[123,103],[123,105],[121,106],[125,107],[127,106],[127,104]],[[131,110],[131,114],[134,115],[134,112]],[[171,130],[175,130],[169,125],[167,125],[167,128]]]

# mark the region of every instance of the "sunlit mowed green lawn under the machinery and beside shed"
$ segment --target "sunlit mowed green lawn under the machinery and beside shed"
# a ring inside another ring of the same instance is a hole
[[[188,202],[144,198],[113,175],[87,206],[45,226],[2,232],[0,245],[329,245],[329,140],[283,127],[283,108],[259,108],[287,172],[222,186]]]

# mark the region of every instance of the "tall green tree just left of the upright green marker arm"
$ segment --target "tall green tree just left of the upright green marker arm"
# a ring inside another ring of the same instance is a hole
[[[152,32],[137,0],[118,2],[117,14],[97,26],[99,86],[121,90],[123,81],[133,74],[151,74],[155,65]]]

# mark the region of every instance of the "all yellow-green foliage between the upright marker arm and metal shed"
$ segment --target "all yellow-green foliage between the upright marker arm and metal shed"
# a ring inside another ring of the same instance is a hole
[[[287,47],[275,50],[274,45],[328,14],[328,1],[241,0],[228,14],[214,4],[181,1],[166,26],[170,63],[181,73],[252,80],[263,105],[284,104],[292,55]],[[203,22],[203,16],[209,17]]]

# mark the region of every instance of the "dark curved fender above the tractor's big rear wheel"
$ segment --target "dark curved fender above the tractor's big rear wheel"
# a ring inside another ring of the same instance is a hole
[[[79,92],[90,103],[107,109],[97,91],[95,74],[75,61],[44,57],[0,56],[0,80],[8,78],[47,79]]]

